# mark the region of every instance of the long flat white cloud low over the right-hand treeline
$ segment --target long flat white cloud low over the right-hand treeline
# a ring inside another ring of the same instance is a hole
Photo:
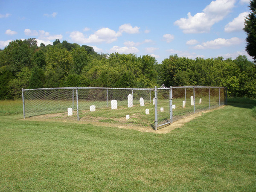
[[[204,42],[201,45],[196,45],[193,48],[194,49],[220,49],[221,47],[238,45],[238,44],[241,44],[242,42],[243,40],[237,37],[230,38],[230,39],[217,38],[212,41]]]

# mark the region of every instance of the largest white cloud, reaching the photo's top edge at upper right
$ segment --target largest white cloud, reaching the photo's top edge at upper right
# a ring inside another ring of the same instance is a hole
[[[233,9],[236,0],[212,1],[201,13],[194,16],[188,13],[187,18],[180,18],[175,25],[183,30],[183,33],[205,33],[209,32],[212,25],[224,17]]]

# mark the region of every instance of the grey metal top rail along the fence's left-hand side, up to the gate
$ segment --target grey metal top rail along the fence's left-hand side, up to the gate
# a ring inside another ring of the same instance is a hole
[[[112,87],[56,87],[56,88],[40,88],[40,89],[23,89],[23,91],[28,90],[61,90],[61,89],[118,89],[118,90],[151,90],[152,88],[112,88]]]

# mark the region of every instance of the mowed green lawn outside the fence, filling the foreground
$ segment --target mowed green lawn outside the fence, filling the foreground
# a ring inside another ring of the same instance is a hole
[[[0,191],[256,191],[255,100],[169,134],[20,120],[22,102],[17,114],[3,103]]]

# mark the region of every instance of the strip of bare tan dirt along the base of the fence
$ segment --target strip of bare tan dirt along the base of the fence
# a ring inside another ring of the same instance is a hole
[[[33,116],[29,117],[26,119],[22,119],[25,121],[42,121],[42,122],[67,122],[67,123],[76,123],[76,124],[81,124],[81,125],[96,125],[96,126],[103,126],[103,127],[113,127],[113,128],[124,128],[124,129],[131,129],[131,130],[137,130],[141,132],[151,132],[151,133],[156,133],[156,134],[166,134],[169,133],[170,131],[180,128],[183,126],[186,122],[190,122],[192,119],[195,119],[198,116],[202,116],[204,113],[209,113],[211,111],[215,111],[221,108],[224,108],[225,106],[222,105],[218,108],[214,108],[208,111],[203,111],[199,113],[193,113],[190,116],[185,116],[182,119],[179,119],[172,124],[169,125],[164,125],[162,127],[158,127],[157,131],[154,130],[151,126],[145,127],[145,126],[140,126],[140,125],[134,125],[131,123],[125,123],[125,122],[101,122],[104,120],[107,120],[107,118],[95,118],[95,117],[89,117],[89,118],[82,118],[79,121],[77,121],[76,116],[70,116],[68,118],[63,118],[64,116],[67,116],[67,113],[54,113],[54,114],[46,114],[46,115],[39,115],[39,116]],[[116,119],[113,119],[115,121]]]

